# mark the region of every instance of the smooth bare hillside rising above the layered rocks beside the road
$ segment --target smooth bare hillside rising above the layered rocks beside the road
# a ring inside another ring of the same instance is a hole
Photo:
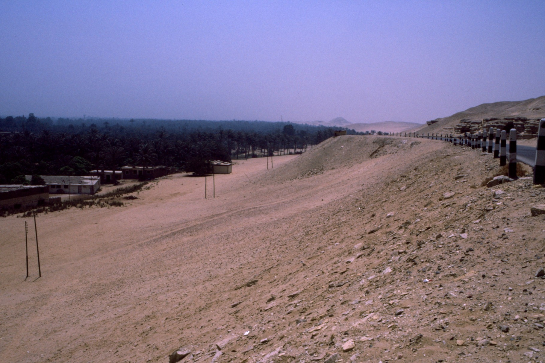
[[[524,101],[501,101],[470,107],[448,117],[428,121],[422,132],[441,132],[455,130],[461,120],[485,119],[541,119],[545,117],[545,96]]]

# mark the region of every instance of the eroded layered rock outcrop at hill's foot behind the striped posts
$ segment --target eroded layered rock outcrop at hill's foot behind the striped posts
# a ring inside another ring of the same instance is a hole
[[[537,135],[540,118],[529,119],[526,117],[505,117],[505,118],[483,118],[483,119],[462,119],[455,126],[454,132],[463,134],[464,132],[475,132],[494,129],[515,129],[518,138],[531,138]]]

